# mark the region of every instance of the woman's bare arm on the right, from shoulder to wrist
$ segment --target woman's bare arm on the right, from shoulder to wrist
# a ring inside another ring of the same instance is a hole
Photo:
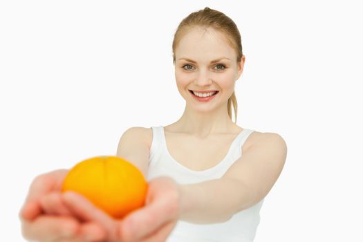
[[[281,174],[286,142],[277,133],[263,133],[225,175],[203,183],[181,185],[180,219],[220,223],[261,201]]]

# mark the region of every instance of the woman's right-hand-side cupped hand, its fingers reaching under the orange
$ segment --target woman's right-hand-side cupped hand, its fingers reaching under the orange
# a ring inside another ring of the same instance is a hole
[[[121,220],[111,218],[73,192],[66,192],[62,200],[80,220],[99,222],[108,242],[166,241],[180,214],[180,186],[168,177],[150,180],[145,206]]]

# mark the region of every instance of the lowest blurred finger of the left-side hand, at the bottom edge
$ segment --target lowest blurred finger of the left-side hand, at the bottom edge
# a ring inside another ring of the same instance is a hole
[[[21,232],[28,240],[55,241],[70,239],[79,229],[75,218],[44,215],[32,222],[24,221]]]

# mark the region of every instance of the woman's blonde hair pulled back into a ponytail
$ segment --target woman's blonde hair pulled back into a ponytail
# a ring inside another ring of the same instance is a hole
[[[227,41],[229,44],[236,50],[237,59],[236,62],[241,62],[243,53],[242,53],[242,44],[241,44],[241,35],[239,33],[239,29],[237,28],[234,21],[227,17],[223,12],[219,12],[217,10],[213,10],[211,8],[204,8],[203,10],[199,10],[197,12],[192,12],[190,15],[183,19],[176,32],[174,34],[173,40],[173,62],[175,64],[175,50],[179,44],[180,39],[188,32],[188,30],[195,28],[213,28],[219,32],[222,32],[227,37]],[[237,99],[234,92],[232,96],[228,99],[227,102],[227,111],[228,115],[232,120],[232,106],[234,109],[234,120],[237,122]]]

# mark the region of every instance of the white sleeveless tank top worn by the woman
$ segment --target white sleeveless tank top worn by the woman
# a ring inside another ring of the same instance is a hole
[[[153,140],[150,148],[147,180],[158,176],[169,176],[179,184],[201,183],[205,180],[221,178],[225,171],[242,156],[242,146],[253,130],[243,129],[233,140],[227,155],[218,165],[203,171],[194,171],[174,160],[167,150],[164,127],[151,127]],[[178,221],[167,242],[251,242],[259,225],[259,212],[263,199],[238,212],[223,223],[195,224]]]

